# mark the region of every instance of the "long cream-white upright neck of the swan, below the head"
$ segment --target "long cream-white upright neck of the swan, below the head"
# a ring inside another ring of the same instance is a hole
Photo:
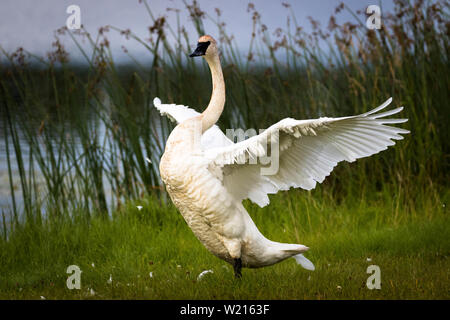
[[[222,67],[219,55],[207,57],[213,82],[213,91],[208,107],[202,113],[202,133],[211,128],[218,120],[225,105],[225,82],[223,80]]]

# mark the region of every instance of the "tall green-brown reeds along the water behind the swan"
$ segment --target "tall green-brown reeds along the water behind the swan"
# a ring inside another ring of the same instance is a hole
[[[164,196],[159,156],[173,125],[158,115],[152,100],[158,96],[199,111],[207,104],[207,67],[186,59],[205,31],[218,35],[222,51],[227,105],[219,125],[224,130],[265,128],[287,116],[360,113],[390,96],[395,106],[405,106],[402,116],[409,119],[405,127],[411,134],[380,155],[339,165],[315,196],[336,202],[391,199],[412,214],[420,201],[435,204],[448,197],[450,32],[445,1],[396,1],[381,30],[368,30],[363,22],[339,25],[335,16],[323,29],[311,19],[310,34],[288,4],[283,4],[286,27],[276,30],[269,30],[249,4],[253,33],[245,55],[227,34],[219,9],[213,15],[196,1],[184,3],[196,35],[155,17],[145,1],[141,5],[152,23],[147,40],[113,26],[95,36],[83,29],[60,29],[58,38],[73,39],[86,67],[70,64],[59,40],[48,57],[24,49],[3,51],[9,63],[0,65],[0,108],[12,221],[22,212],[27,221],[41,221],[42,213],[55,219],[74,212],[106,217],[127,200]],[[347,8],[340,5],[335,14],[342,10]],[[205,30],[206,19],[217,30]],[[124,48],[135,64],[116,64],[110,32],[143,45],[151,63],[141,65]]]

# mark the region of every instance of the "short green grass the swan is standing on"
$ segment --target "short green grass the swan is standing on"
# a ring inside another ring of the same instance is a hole
[[[232,267],[201,245],[172,205],[149,198],[112,220],[79,217],[18,227],[0,242],[0,299],[450,298],[450,221],[442,205],[429,217],[406,218],[401,211],[401,224],[381,199],[335,207],[291,191],[272,197],[267,208],[248,208],[270,239],[310,246],[306,256],[316,270],[288,259],[244,269],[242,280],[235,280]],[[66,287],[72,264],[82,270],[80,290]],[[371,264],[381,269],[381,290],[365,285]],[[214,273],[197,281],[207,269]]]

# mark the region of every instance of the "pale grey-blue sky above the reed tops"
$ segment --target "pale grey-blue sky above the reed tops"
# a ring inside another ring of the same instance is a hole
[[[190,0],[188,0],[191,2]],[[227,32],[233,34],[239,48],[247,48],[251,38],[252,19],[247,12],[250,1],[243,0],[198,0],[203,11],[215,16],[215,8],[222,12],[221,19],[226,22]],[[275,30],[285,27],[287,9],[282,2],[292,5],[298,23],[306,30],[310,30],[308,16],[322,23],[328,24],[329,17],[341,0],[253,0],[256,9],[261,14],[262,21]],[[353,11],[365,9],[371,4],[380,5],[383,11],[391,11],[391,0],[347,0],[344,3]],[[168,7],[180,9],[180,23],[192,34],[192,46],[195,46],[196,32],[192,27],[190,17],[182,0],[148,0],[153,14],[158,17],[165,15],[168,23],[176,25],[173,12]],[[78,5],[81,10],[81,23],[91,34],[97,34],[100,27],[112,25],[121,29],[130,29],[139,37],[148,38],[148,27],[152,24],[147,11],[138,0],[2,0],[0,2],[0,46],[7,52],[18,47],[38,56],[44,56],[52,48],[55,30],[66,25],[69,15],[67,7]],[[354,20],[348,12],[337,16],[339,21]],[[361,16],[364,19],[363,16]],[[217,35],[217,27],[211,22],[205,23],[206,32],[213,37]],[[122,46],[137,59],[143,60],[148,51],[135,41],[126,40],[116,32],[108,34],[111,50],[116,60],[126,61],[128,56],[123,53]],[[80,51],[68,37],[63,38],[63,44],[71,59],[82,60]]]

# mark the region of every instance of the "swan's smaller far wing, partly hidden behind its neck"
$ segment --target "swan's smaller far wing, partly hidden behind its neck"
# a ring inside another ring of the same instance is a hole
[[[182,123],[185,120],[200,115],[200,113],[198,113],[194,109],[183,105],[162,104],[159,98],[153,99],[153,104],[155,105],[156,109],[159,110],[161,115],[167,116],[171,121],[176,123]],[[214,125],[205,133],[203,133],[201,144],[203,150],[207,150],[211,148],[227,146],[233,144],[233,142],[226,137],[226,135],[222,132],[222,130],[220,130],[218,126]]]

